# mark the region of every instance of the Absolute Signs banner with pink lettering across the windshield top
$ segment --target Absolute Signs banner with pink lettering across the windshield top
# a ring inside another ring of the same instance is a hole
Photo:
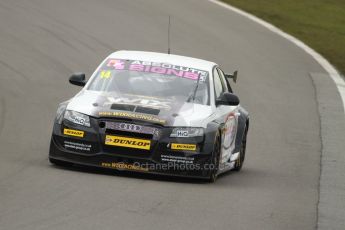
[[[156,73],[167,76],[182,77],[191,80],[206,81],[208,72],[194,69],[190,67],[172,65],[167,63],[138,61],[138,60],[121,60],[121,59],[108,59],[103,68],[115,70],[129,70],[136,72]]]

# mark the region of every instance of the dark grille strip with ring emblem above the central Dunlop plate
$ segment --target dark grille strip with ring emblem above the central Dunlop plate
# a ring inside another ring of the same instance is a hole
[[[133,133],[144,133],[152,135],[158,134],[158,129],[156,128],[131,123],[106,122],[105,127],[106,129],[127,131]]]

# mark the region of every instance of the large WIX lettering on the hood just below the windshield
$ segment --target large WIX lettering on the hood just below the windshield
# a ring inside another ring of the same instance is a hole
[[[103,106],[112,104],[130,104],[138,106],[147,106],[156,109],[171,109],[171,102],[169,101],[159,101],[155,99],[148,98],[127,98],[127,97],[107,97],[107,101],[104,102]]]

